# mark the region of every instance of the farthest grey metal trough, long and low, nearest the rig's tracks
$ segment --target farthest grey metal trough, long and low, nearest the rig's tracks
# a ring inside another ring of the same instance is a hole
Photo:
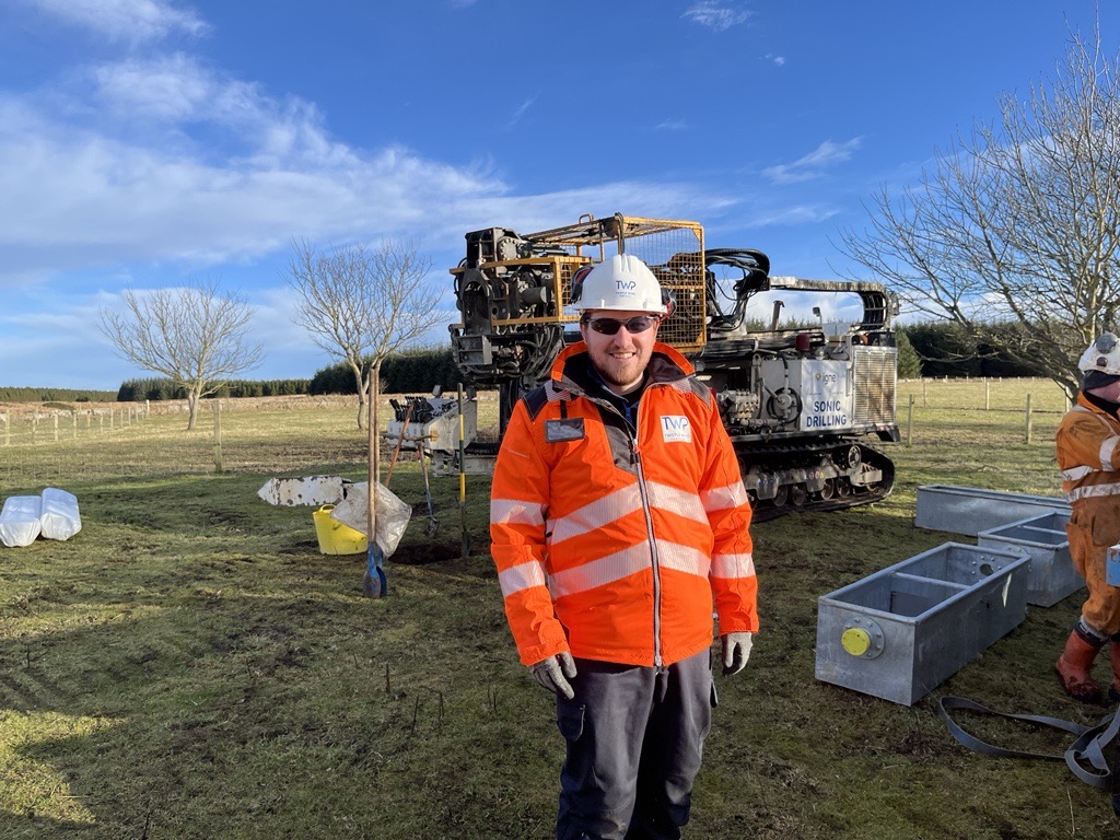
[[[1070,504],[1056,496],[927,484],[917,488],[914,524],[932,531],[976,536],[988,529],[1047,513],[1068,516]]]

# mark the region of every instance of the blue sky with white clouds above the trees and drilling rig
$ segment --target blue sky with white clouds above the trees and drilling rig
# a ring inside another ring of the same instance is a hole
[[[775,274],[850,269],[839,231],[1001,93],[1054,74],[1095,0],[0,0],[0,385],[148,375],[99,332],[123,289],[213,279],[265,361],[292,240],[411,237],[446,320],[464,233],[591,213],[694,220]],[[440,328],[433,340],[445,340]]]

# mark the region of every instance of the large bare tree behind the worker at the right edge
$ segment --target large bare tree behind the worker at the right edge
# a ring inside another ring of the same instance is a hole
[[[843,251],[917,311],[1053,379],[1071,396],[1077,357],[1120,307],[1120,73],[1073,36],[1055,77],[999,99],[922,183],[884,187],[869,231]]]

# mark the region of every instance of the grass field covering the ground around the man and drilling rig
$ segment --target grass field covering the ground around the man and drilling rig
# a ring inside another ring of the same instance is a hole
[[[890,496],[756,525],[763,631],[746,671],[717,678],[688,837],[1120,833],[1107,794],[1062,762],[970,753],[935,712],[961,694],[1096,722],[1105,709],[1051,672],[1079,596],[1029,608],[909,708],[813,679],[818,596],[962,540],[914,526],[917,487],[1056,495],[1064,408],[1042,381],[900,383]],[[221,473],[212,422],[187,433],[153,412],[0,446],[0,496],[64,487],[83,519],[69,541],[0,547],[0,837],[550,837],[562,743],[505,627],[486,482],[468,479],[464,558],[457,480],[436,479],[428,538],[417,464],[396,466],[392,488],[417,507],[389,596],[370,600],[364,557],[320,554],[309,508],[256,497],[274,475],[364,477],[353,407],[224,410]],[[1067,741],[965,722],[1035,752]]]

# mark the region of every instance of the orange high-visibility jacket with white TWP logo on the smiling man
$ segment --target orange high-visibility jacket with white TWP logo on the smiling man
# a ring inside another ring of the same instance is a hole
[[[582,343],[517,402],[494,470],[492,553],[521,661],[670,665],[758,629],[750,504],[711,391],[655,344],[636,438],[589,395]],[[594,393],[594,390],[592,390]]]

